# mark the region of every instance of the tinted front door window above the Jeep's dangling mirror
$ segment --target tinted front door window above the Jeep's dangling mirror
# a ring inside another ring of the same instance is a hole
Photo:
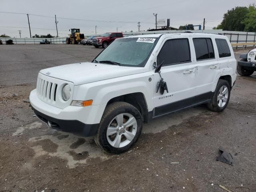
[[[188,39],[167,40],[157,56],[157,63],[163,66],[191,62]]]

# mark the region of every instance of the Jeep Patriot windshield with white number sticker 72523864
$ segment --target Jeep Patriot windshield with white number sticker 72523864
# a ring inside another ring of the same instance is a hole
[[[94,62],[111,61],[121,66],[142,66],[150,56],[156,44],[155,40],[155,38],[116,39],[95,58]]]

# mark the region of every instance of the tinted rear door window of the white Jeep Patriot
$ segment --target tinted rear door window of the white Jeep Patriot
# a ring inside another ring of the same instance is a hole
[[[214,49],[210,38],[193,38],[196,60],[213,59]]]

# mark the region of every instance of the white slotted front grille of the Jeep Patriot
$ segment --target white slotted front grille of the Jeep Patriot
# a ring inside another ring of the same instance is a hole
[[[37,94],[38,96],[48,102],[56,101],[56,90],[58,84],[44,80],[38,77],[37,81]]]

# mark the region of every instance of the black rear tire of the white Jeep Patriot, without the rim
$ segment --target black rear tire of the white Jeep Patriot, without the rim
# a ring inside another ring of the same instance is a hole
[[[223,107],[220,107],[218,105],[218,94],[219,94],[219,91],[220,91],[220,88],[222,86],[226,86],[228,88],[228,99],[226,101],[226,104],[223,106]],[[229,101],[229,98],[230,98],[230,84],[228,83],[228,81],[226,80],[223,80],[223,79],[220,79],[218,80],[218,83],[217,83],[217,86],[216,86],[216,89],[214,91],[214,93],[212,94],[212,99],[211,99],[211,102],[207,104],[207,107],[208,109],[210,109],[211,111],[214,111],[214,112],[222,112],[228,105],[228,101]]]

